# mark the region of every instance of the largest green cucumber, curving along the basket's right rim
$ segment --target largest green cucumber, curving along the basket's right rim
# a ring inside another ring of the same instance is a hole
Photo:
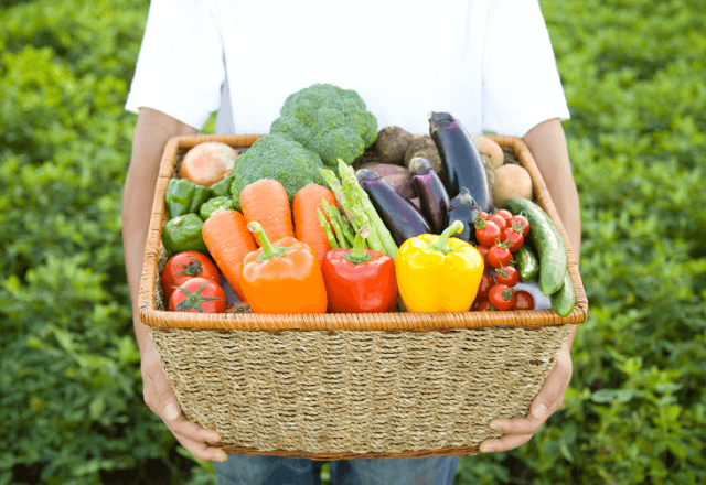
[[[511,197],[505,202],[505,208],[513,214],[522,213],[530,220],[530,240],[539,259],[539,289],[546,295],[555,293],[564,284],[568,262],[566,242],[559,229],[542,207],[527,198]]]

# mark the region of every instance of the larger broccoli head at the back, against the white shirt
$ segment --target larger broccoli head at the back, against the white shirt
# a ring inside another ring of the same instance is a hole
[[[325,165],[351,163],[377,139],[377,119],[352,89],[314,84],[287,97],[269,130],[314,151]]]

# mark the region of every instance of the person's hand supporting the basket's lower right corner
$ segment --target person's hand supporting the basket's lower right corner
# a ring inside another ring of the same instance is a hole
[[[564,405],[564,394],[571,380],[573,370],[571,355],[565,342],[554,368],[530,406],[530,414],[526,418],[492,420],[489,425],[504,433],[504,436],[483,441],[480,445],[481,453],[509,451],[530,441],[547,418]]]

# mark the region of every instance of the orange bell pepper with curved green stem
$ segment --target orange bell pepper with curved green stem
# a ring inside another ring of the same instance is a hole
[[[243,260],[239,283],[255,313],[324,313],[327,290],[319,258],[311,246],[293,237],[270,242],[263,227],[247,228],[261,247]]]

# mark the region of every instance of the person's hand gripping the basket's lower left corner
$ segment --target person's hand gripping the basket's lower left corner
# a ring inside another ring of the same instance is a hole
[[[151,342],[142,354],[142,381],[145,385],[145,402],[152,412],[159,416],[174,434],[176,440],[199,460],[225,462],[227,454],[207,443],[217,443],[221,436],[217,432],[201,428],[186,421],[181,414],[179,401],[167,379],[159,355]]]

